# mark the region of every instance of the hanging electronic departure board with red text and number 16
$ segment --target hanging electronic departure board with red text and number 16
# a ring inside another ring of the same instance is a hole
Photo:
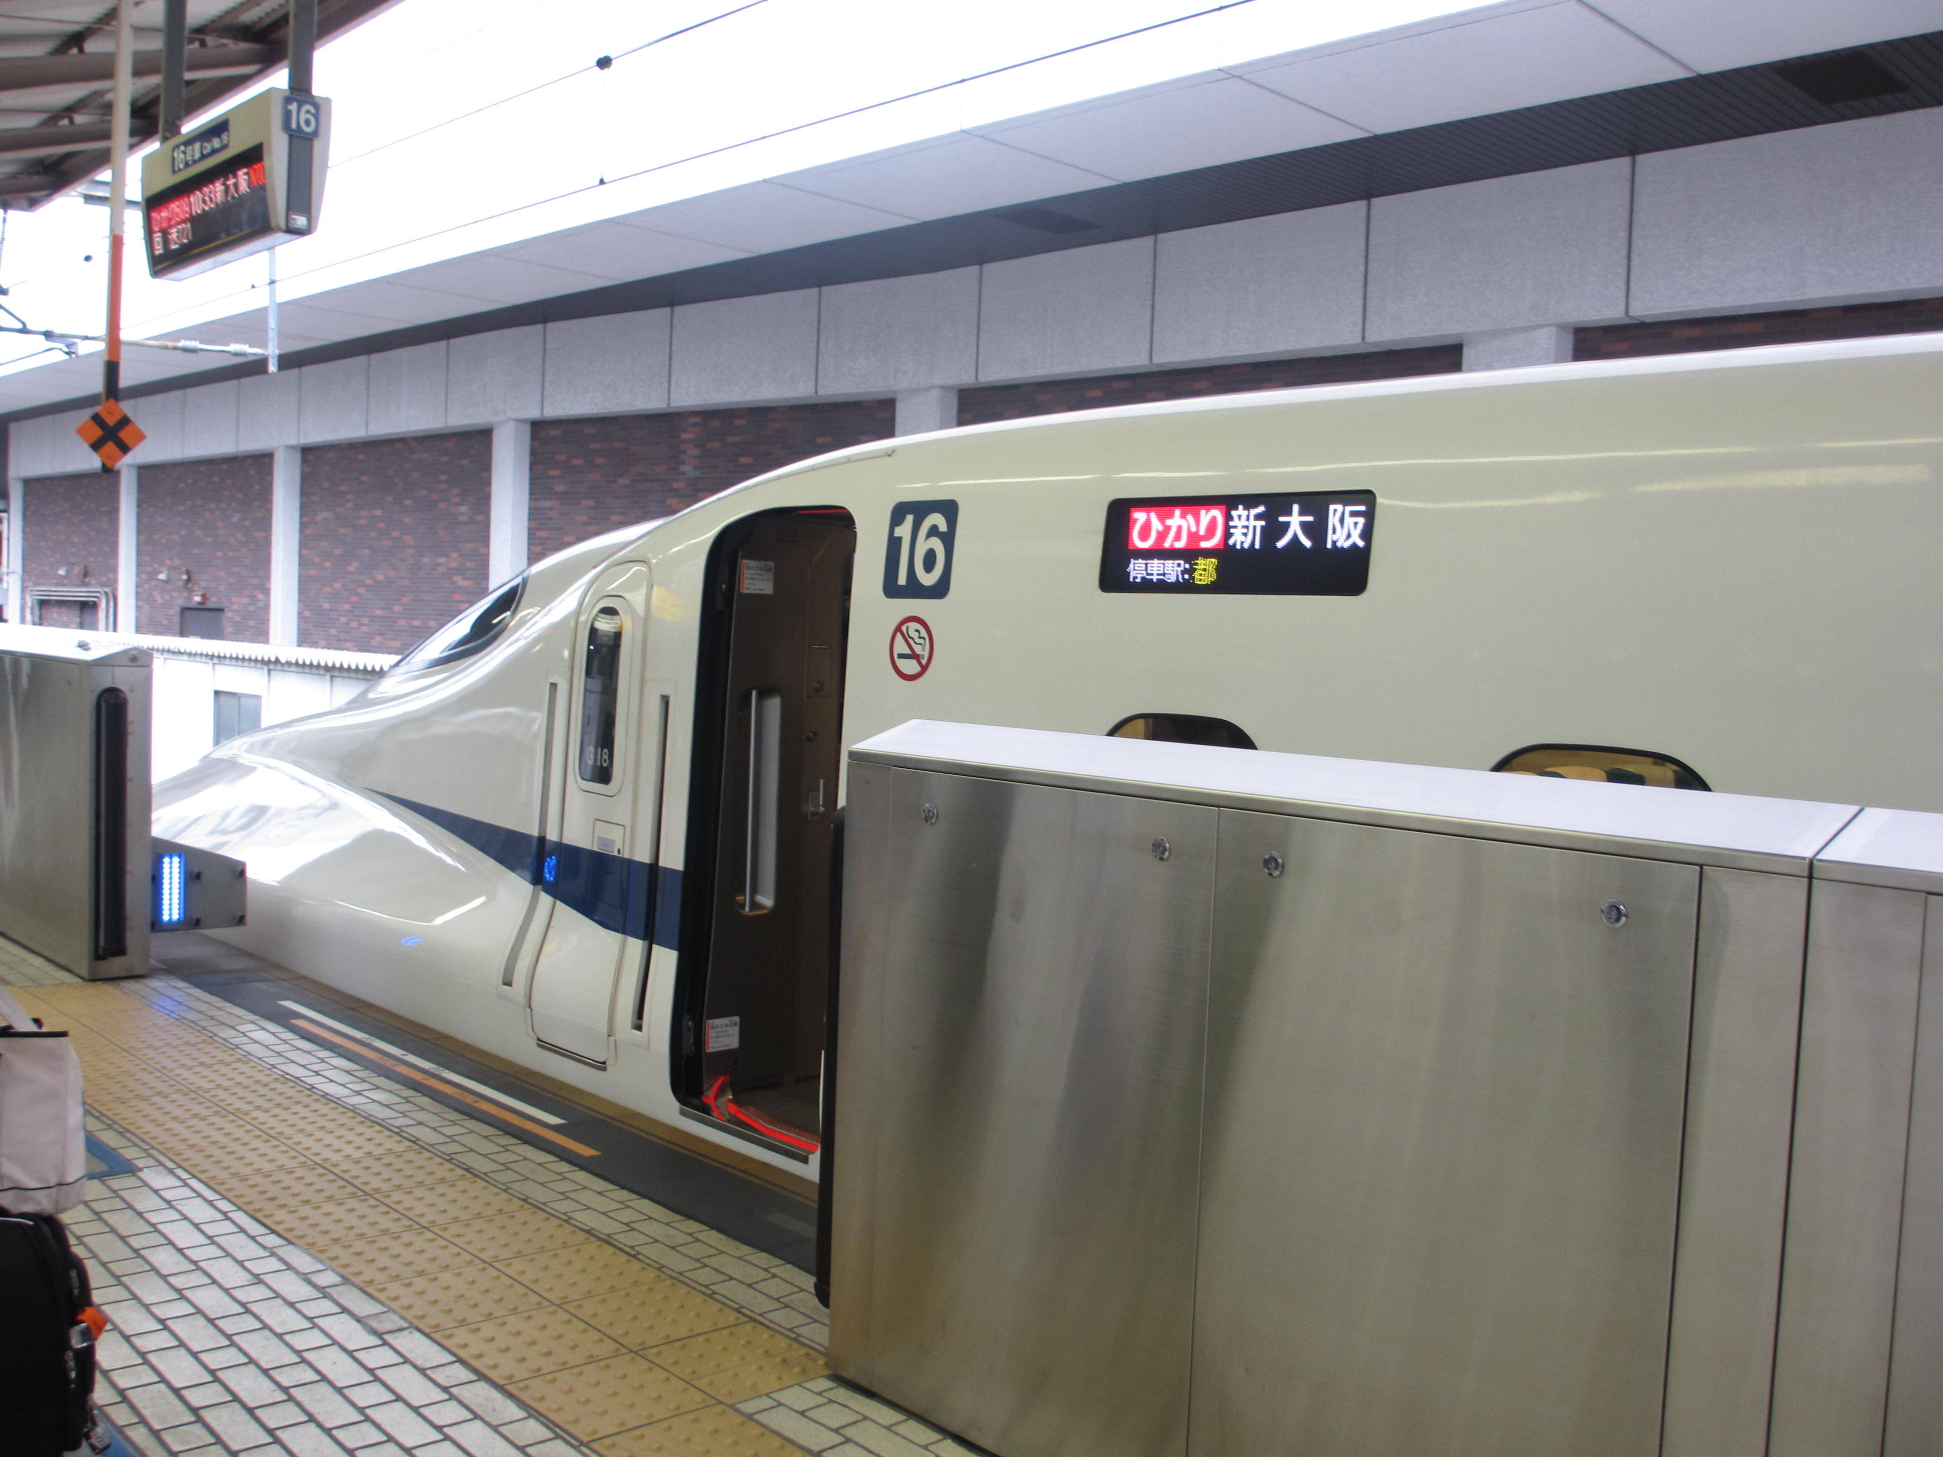
[[[317,231],[330,101],[262,91],[142,159],[152,278],[192,278]]]

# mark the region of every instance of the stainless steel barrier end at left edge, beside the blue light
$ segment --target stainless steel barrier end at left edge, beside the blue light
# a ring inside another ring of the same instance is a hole
[[[0,934],[89,979],[148,971],[150,655],[0,629]]]

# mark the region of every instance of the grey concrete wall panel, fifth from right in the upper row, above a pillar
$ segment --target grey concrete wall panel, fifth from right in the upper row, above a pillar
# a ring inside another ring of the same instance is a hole
[[[816,389],[925,389],[977,379],[977,268],[824,289]]]

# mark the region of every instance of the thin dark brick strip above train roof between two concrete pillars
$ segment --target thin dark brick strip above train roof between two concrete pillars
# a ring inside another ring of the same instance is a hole
[[[1203,394],[1242,394],[1296,385],[1350,385],[1360,379],[1448,375],[1457,369],[1463,369],[1463,346],[1436,344],[1424,350],[1374,350],[1368,354],[1325,354],[1313,359],[1269,359],[1263,363],[1201,365],[1197,369],[1156,369],[1137,375],[1041,379],[1032,385],[987,385],[960,390],[958,424],[983,425],[993,420],[1022,420],[1065,410],[1193,400]]]

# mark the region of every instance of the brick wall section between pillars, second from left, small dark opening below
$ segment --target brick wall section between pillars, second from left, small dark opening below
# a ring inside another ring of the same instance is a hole
[[[136,629],[173,635],[185,606],[220,606],[223,637],[268,641],[270,457],[142,466],[136,486]]]

